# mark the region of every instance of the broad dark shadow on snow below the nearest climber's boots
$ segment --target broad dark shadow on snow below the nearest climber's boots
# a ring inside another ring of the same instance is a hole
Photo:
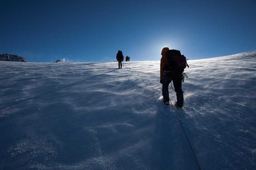
[[[150,169],[198,169],[171,107],[159,104],[151,147]]]

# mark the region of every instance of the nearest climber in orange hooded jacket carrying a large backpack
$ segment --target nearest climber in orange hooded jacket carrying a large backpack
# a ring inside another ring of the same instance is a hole
[[[168,47],[162,49],[162,58],[160,62],[160,83],[162,84],[163,102],[169,105],[168,87],[173,81],[174,89],[177,96],[175,106],[182,110],[183,107],[183,91],[181,89],[183,71],[186,68],[186,57],[181,55],[179,50],[169,50]]]

